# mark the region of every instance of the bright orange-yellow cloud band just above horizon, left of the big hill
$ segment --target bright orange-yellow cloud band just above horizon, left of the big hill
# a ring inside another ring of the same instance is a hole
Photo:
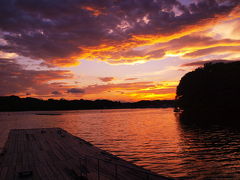
[[[133,83],[116,83],[105,85],[89,85],[86,87],[61,85],[51,93],[55,97],[66,99],[109,99],[121,101],[138,101],[138,100],[163,100],[174,99],[177,82],[133,82]],[[100,94],[100,96],[99,96]],[[49,96],[48,96],[49,97]]]

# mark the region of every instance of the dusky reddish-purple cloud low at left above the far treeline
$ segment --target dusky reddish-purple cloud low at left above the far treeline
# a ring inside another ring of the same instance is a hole
[[[0,95],[23,93],[48,94],[54,85],[49,81],[70,79],[70,71],[64,70],[25,70],[14,59],[0,59]]]

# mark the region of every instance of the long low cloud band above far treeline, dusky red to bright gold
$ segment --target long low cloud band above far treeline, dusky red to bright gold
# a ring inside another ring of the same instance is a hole
[[[173,99],[177,82],[142,81],[127,83],[95,84],[81,87],[71,83],[74,76],[66,70],[26,70],[15,60],[0,59],[0,95],[31,96],[38,98],[153,100]],[[103,77],[110,82],[114,77]],[[135,80],[129,78],[128,80]]]

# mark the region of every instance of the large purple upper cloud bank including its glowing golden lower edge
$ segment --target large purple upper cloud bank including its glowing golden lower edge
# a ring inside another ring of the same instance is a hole
[[[228,0],[196,1],[189,6],[149,0],[149,8],[141,1],[59,1],[6,1],[0,7],[3,31],[7,32],[1,49],[61,67],[78,65],[81,59],[143,63],[190,53],[191,49],[166,52],[150,47],[240,16],[239,3]]]

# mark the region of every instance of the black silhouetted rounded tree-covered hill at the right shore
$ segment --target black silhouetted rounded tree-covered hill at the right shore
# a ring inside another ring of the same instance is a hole
[[[237,121],[240,61],[207,63],[187,73],[177,87],[176,108],[183,110],[184,120]]]

